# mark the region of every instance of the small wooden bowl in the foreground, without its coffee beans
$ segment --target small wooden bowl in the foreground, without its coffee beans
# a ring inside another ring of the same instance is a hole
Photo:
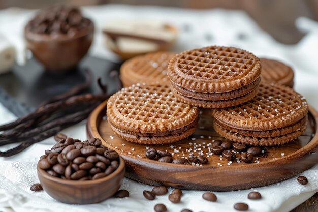
[[[125,162],[119,157],[118,168],[109,176],[94,180],[69,180],[53,177],[37,166],[40,183],[51,197],[68,204],[92,204],[112,197],[125,175]]]

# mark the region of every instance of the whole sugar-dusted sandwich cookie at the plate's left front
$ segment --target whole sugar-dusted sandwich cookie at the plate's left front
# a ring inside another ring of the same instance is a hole
[[[198,116],[198,108],[179,101],[169,85],[132,85],[107,103],[111,129],[120,138],[141,144],[182,140],[194,133]]]

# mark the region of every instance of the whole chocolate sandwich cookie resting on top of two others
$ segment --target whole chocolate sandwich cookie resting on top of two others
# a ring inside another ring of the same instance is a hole
[[[204,108],[231,107],[252,99],[260,74],[259,58],[234,47],[185,51],[175,55],[168,66],[174,95]]]

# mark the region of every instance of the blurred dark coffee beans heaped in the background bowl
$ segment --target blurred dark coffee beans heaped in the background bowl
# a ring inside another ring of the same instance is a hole
[[[91,21],[84,18],[76,7],[53,6],[42,10],[33,20],[29,21],[29,31],[39,34],[75,35],[86,28]]]

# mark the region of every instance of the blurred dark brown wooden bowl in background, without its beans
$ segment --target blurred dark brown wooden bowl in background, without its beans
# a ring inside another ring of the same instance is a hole
[[[94,25],[90,24],[74,36],[33,33],[26,25],[24,37],[27,48],[46,68],[46,71],[67,71],[74,68],[87,53],[94,34]]]

